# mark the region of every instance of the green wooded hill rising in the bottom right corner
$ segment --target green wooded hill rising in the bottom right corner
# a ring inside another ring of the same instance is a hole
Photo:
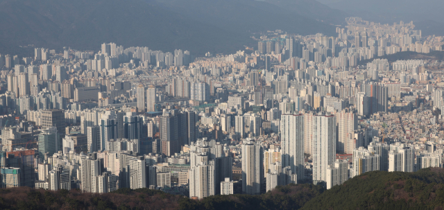
[[[334,186],[302,209],[443,209],[444,169],[374,171]]]

